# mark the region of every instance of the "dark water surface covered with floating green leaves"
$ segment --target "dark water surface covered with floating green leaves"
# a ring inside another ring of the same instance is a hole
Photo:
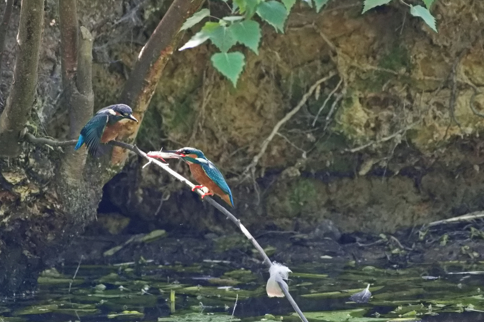
[[[310,321],[484,321],[484,275],[448,274],[469,269],[461,263],[400,270],[330,264],[291,268],[290,292]],[[484,270],[484,262],[471,268]],[[244,322],[281,321],[281,316],[283,321],[299,321],[287,299],[267,297],[266,272],[235,270],[230,263],[80,266],[72,280],[76,269],[45,271],[34,294],[3,299],[0,322],[134,322],[170,316],[202,322],[216,316],[207,313],[231,314],[236,302],[234,316]],[[349,302],[367,283],[370,302]],[[335,312],[330,316],[328,311]],[[194,320],[187,313],[203,314]]]

